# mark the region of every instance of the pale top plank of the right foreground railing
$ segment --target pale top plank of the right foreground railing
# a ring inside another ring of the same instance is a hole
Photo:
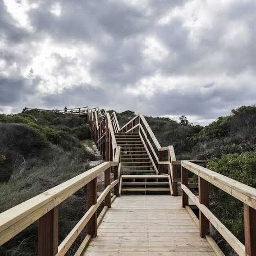
[[[220,173],[213,172],[200,165],[190,163],[189,161],[181,161],[181,166],[227,192],[229,195],[234,196],[244,204],[256,209],[256,188],[247,186]]]

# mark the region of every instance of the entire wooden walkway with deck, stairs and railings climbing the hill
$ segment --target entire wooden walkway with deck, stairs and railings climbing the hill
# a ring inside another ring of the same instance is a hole
[[[81,112],[78,108],[78,115]],[[106,162],[0,213],[0,246],[38,221],[39,256],[67,255],[85,227],[87,235],[75,256],[223,256],[210,236],[211,223],[237,255],[256,255],[255,188],[200,166],[205,160],[176,160],[173,146],[161,147],[140,114],[120,128],[115,112],[87,108],[84,113]],[[105,189],[98,195],[100,175]],[[192,175],[197,180],[189,178]],[[244,244],[211,212],[209,185],[243,203]],[[59,205],[84,186],[87,211],[59,244]],[[160,195],[162,189],[171,196]],[[127,191],[158,193],[124,195]],[[190,205],[198,208],[199,219]]]

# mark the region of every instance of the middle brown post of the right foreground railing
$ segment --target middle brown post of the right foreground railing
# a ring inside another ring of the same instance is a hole
[[[199,203],[204,204],[206,207],[209,205],[209,189],[208,181],[198,177],[199,186]],[[200,236],[205,237],[209,234],[209,220],[204,216],[204,214],[199,210],[199,230]]]

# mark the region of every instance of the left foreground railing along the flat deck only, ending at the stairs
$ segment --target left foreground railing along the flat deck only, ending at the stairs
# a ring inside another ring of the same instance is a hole
[[[97,235],[97,209],[105,200],[111,207],[111,189],[118,195],[118,179],[110,182],[110,168],[118,167],[116,162],[104,162],[44,193],[35,196],[0,214],[0,245],[10,240],[22,230],[39,221],[39,256],[65,255],[77,236],[87,225],[87,237]],[[97,177],[105,173],[105,189],[97,198]],[[118,172],[118,171],[117,171]],[[87,185],[87,212],[68,236],[58,245],[58,205]]]

